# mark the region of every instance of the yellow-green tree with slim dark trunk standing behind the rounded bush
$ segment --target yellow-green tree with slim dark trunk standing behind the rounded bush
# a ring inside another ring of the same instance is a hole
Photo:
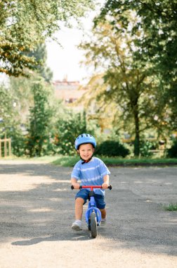
[[[131,22],[129,27],[137,23],[133,13],[129,12],[126,16]],[[94,95],[97,98],[102,106],[101,113],[105,106],[114,106],[112,114],[115,118],[119,114],[124,122],[123,127],[129,128],[135,135],[134,154],[139,155],[140,133],[157,123],[155,115],[162,116],[164,104],[157,109],[159,80],[152,74],[150,64],[133,59],[136,51],[133,41],[129,32],[124,32],[122,20],[115,16],[98,23],[93,29],[92,42],[82,44],[81,48],[87,51],[86,63],[94,64],[98,73],[102,71],[91,79],[87,97],[91,99]]]

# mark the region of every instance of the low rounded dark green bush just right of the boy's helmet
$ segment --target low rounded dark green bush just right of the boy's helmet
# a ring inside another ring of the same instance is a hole
[[[118,141],[105,140],[96,148],[96,154],[106,157],[126,157],[130,152]]]

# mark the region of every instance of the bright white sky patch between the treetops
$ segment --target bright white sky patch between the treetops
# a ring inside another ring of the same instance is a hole
[[[100,1],[103,6],[104,1]],[[84,66],[80,66],[80,61],[84,59],[84,51],[77,48],[77,45],[83,39],[83,33],[91,31],[93,25],[92,20],[99,11],[97,6],[95,11],[89,12],[86,18],[82,18],[84,30],[79,30],[76,26],[72,29],[63,28],[55,34],[60,44],[55,42],[47,42],[47,66],[53,71],[53,80],[74,80],[84,83],[88,80],[89,70]]]

